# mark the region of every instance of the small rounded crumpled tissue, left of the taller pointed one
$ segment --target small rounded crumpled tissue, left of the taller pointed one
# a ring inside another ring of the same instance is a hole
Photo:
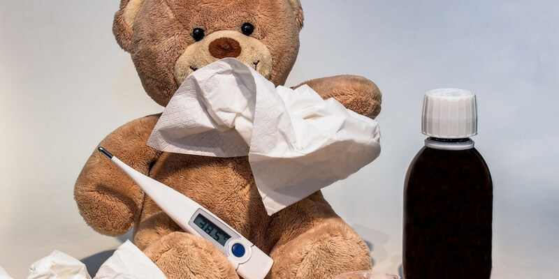
[[[91,279],[91,276],[85,264],[55,250],[29,266],[27,279]]]

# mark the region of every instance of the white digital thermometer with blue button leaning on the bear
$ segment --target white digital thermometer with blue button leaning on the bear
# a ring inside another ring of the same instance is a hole
[[[184,231],[202,236],[214,243],[226,255],[242,278],[263,279],[266,277],[272,267],[273,259],[222,219],[175,189],[122,163],[103,147],[99,147],[99,151],[130,176]]]

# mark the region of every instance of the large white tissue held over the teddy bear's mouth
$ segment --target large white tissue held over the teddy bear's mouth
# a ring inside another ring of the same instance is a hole
[[[171,98],[147,144],[161,151],[249,156],[269,215],[380,153],[375,120],[309,86],[277,86],[237,59],[196,70]]]

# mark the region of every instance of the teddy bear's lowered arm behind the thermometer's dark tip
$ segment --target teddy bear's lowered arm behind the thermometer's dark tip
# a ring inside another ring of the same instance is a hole
[[[148,174],[161,154],[145,144],[157,119],[159,116],[146,116],[126,123],[110,133],[99,146]],[[85,163],[74,187],[74,199],[86,223],[109,236],[131,229],[140,214],[143,197],[143,191],[97,150]]]

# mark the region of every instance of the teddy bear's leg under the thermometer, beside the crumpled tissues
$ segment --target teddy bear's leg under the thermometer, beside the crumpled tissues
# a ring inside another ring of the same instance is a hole
[[[186,232],[170,233],[144,252],[168,279],[239,278],[214,244]]]

